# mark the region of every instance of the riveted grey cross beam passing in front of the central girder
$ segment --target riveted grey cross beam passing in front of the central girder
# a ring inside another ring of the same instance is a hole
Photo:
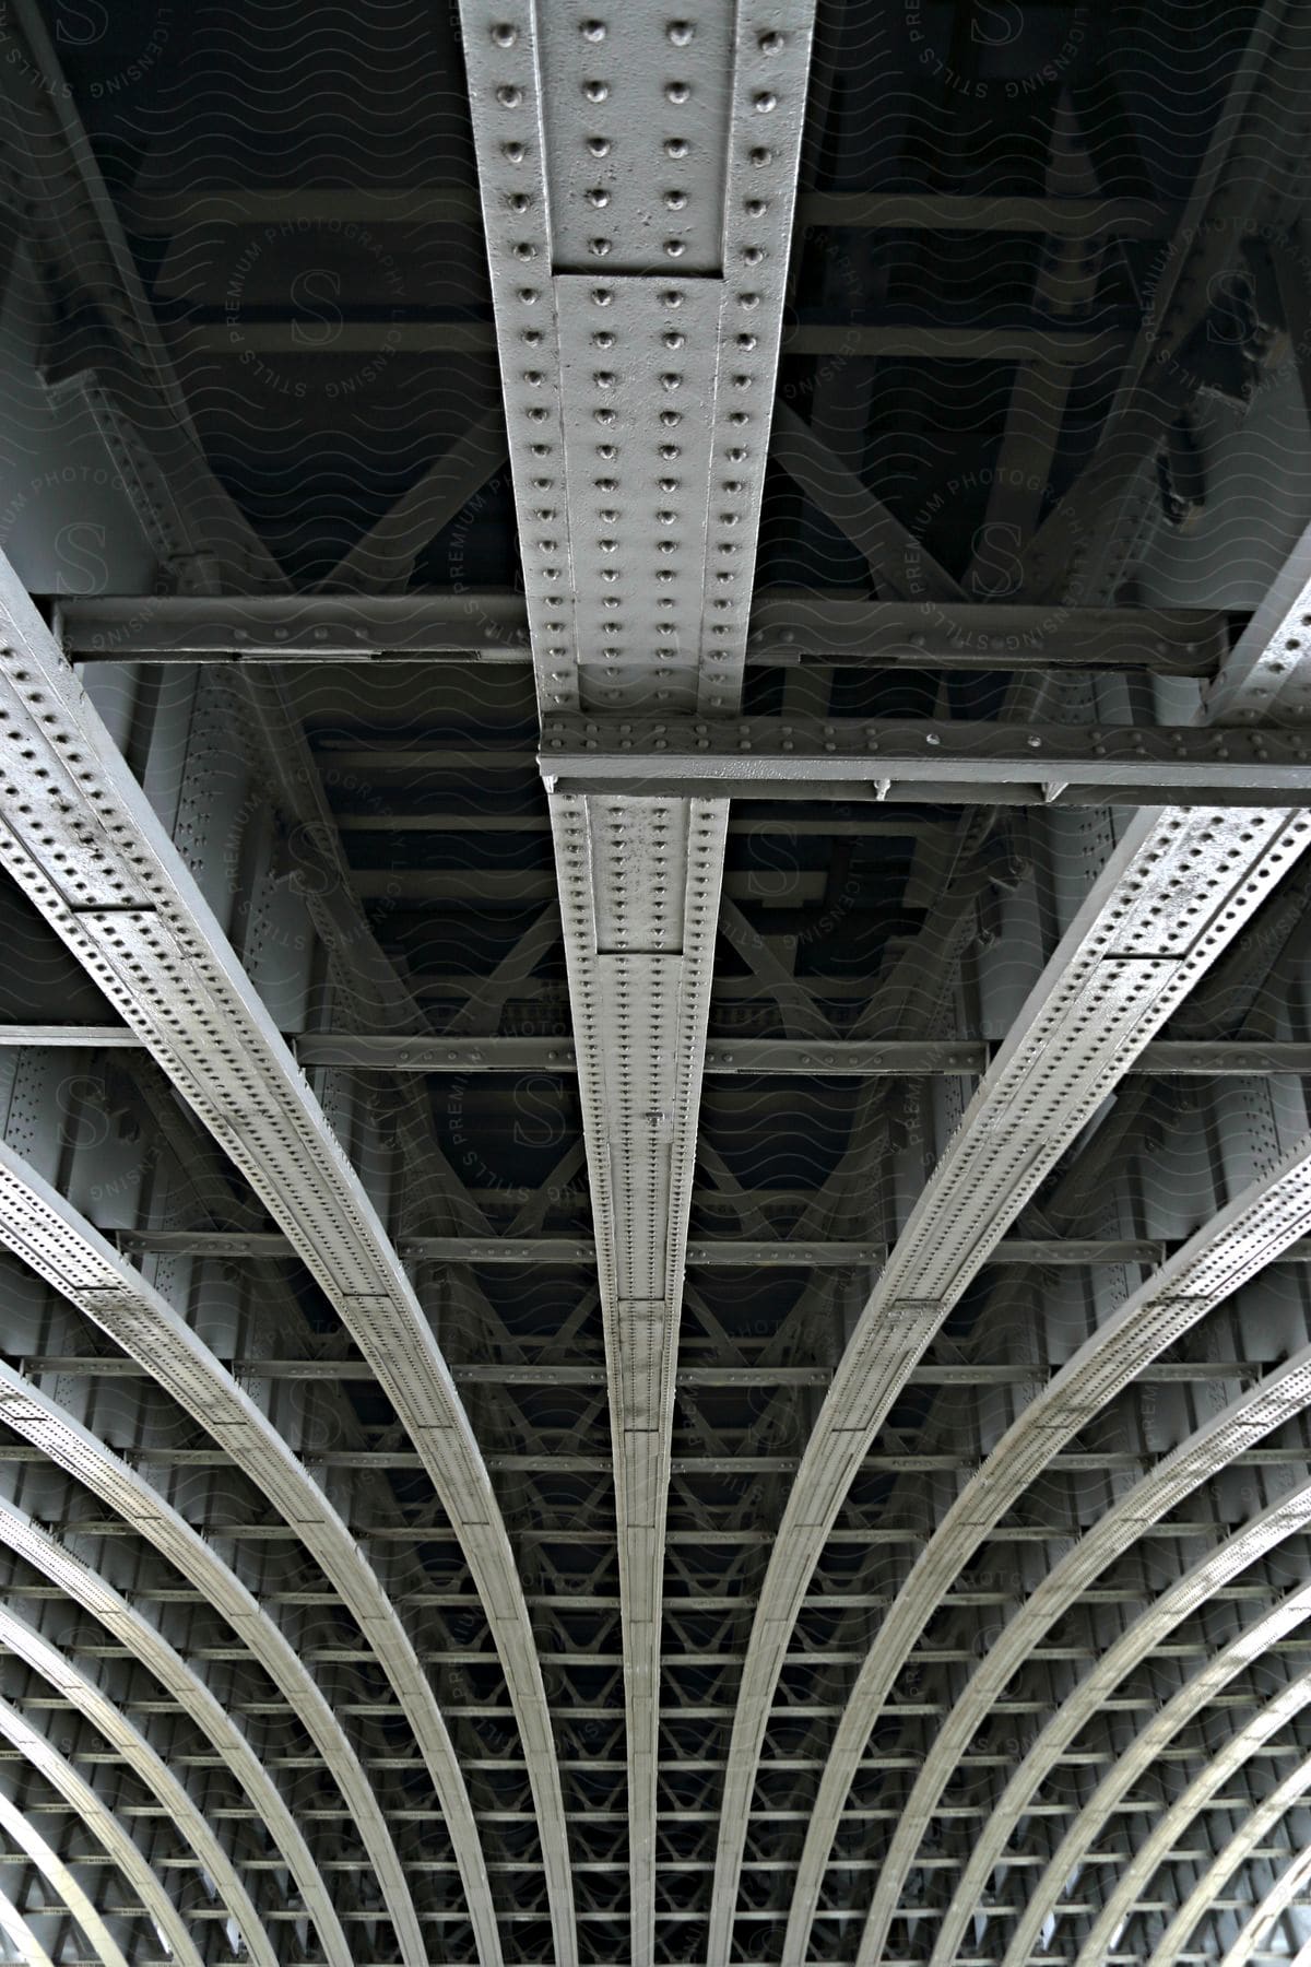
[[[1287,730],[859,718],[542,720],[550,791],[916,805],[1311,805]]]

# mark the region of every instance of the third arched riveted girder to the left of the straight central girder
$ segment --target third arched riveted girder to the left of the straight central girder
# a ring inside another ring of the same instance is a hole
[[[401,1861],[366,1776],[318,1682],[236,1572],[138,1469],[122,1461],[47,1393],[0,1361],[0,1418],[130,1522],[228,1621],[299,1717],[336,1780],[377,1875],[405,1967],[427,1967],[427,1947]],[[26,1552],[24,1552],[26,1554]],[[63,1552],[67,1558],[67,1552]],[[69,1564],[75,1560],[69,1558]],[[108,1587],[86,1568],[96,1597]]]

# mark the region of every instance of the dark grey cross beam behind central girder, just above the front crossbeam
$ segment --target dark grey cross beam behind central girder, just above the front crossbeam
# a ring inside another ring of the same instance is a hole
[[[480,661],[529,663],[523,596],[98,594],[61,596],[63,649],[77,661]],[[1211,608],[1042,608],[1012,602],[869,602],[765,588],[747,661],[934,669],[1144,669],[1211,677],[1230,645]]]

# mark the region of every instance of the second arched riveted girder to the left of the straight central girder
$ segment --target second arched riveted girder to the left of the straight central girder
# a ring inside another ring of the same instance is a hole
[[[301,1538],[373,1648],[446,1816],[470,1918],[499,1949],[491,1888],[464,1772],[419,1654],[371,1564],[273,1422],[140,1271],[10,1147],[0,1143],[0,1241],[214,1436]],[[10,1420],[24,1395],[0,1401]],[[22,1426],[20,1420],[12,1424]]]

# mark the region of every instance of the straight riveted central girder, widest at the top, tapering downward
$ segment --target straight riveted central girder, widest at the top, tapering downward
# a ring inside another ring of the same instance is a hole
[[[812,0],[462,8],[542,712],[739,704],[812,16]],[[647,1967],[727,801],[554,795],[550,822],[615,1458],[631,1959]]]

